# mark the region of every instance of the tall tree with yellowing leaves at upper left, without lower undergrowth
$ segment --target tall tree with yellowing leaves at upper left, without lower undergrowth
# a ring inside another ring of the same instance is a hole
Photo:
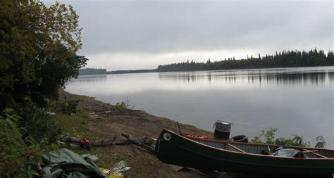
[[[78,15],[71,6],[42,1],[0,1],[0,110],[20,108],[26,98],[45,106],[87,59]]]

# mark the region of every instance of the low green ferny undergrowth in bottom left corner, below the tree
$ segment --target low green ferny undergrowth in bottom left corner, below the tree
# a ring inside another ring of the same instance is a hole
[[[56,149],[56,144],[51,146],[44,146],[44,140],[37,142],[32,136],[25,136],[21,134],[21,130],[25,128],[19,127],[21,120],[20,116],[14,113],[12,109],[5,109],[2,113],[4,116],[0,116],[0,177],[28,177],[36,174],[35,170],[32,170],[30,163],[34,161],[42,161],[42,154]],[[37,144],[39,143],[39,144]],[[18,172],[18,168],[24,164],[27,164],[27,170],[25,174]]]

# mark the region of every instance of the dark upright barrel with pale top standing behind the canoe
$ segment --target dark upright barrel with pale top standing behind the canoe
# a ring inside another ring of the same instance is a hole
[[[214,123],[214,139],[216,140],[230,139],[231,125],[232,123],[230,122],[217,120],[216,123]]]

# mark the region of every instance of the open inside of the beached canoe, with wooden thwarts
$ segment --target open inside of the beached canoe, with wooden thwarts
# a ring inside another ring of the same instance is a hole
[[[273,155],[276,152],[276,149],[280,146],[277,145],[262,145],[262,144],[247,144],[247,143],[238,143],[238,142],[229,142],[229,141],[212,141],[212,140],[200,140],[192,139],[201,144],[212,146],[215,148],[221,148],[228,151],[237,151],[240,153],[253,153],[259,155]],[[308,158],[334,158],[334,151],[318,148],[304,148],[304,147],[292,147],[292,146],[283,146],[283,148],[293,148],[299,151],[302,151]]]

